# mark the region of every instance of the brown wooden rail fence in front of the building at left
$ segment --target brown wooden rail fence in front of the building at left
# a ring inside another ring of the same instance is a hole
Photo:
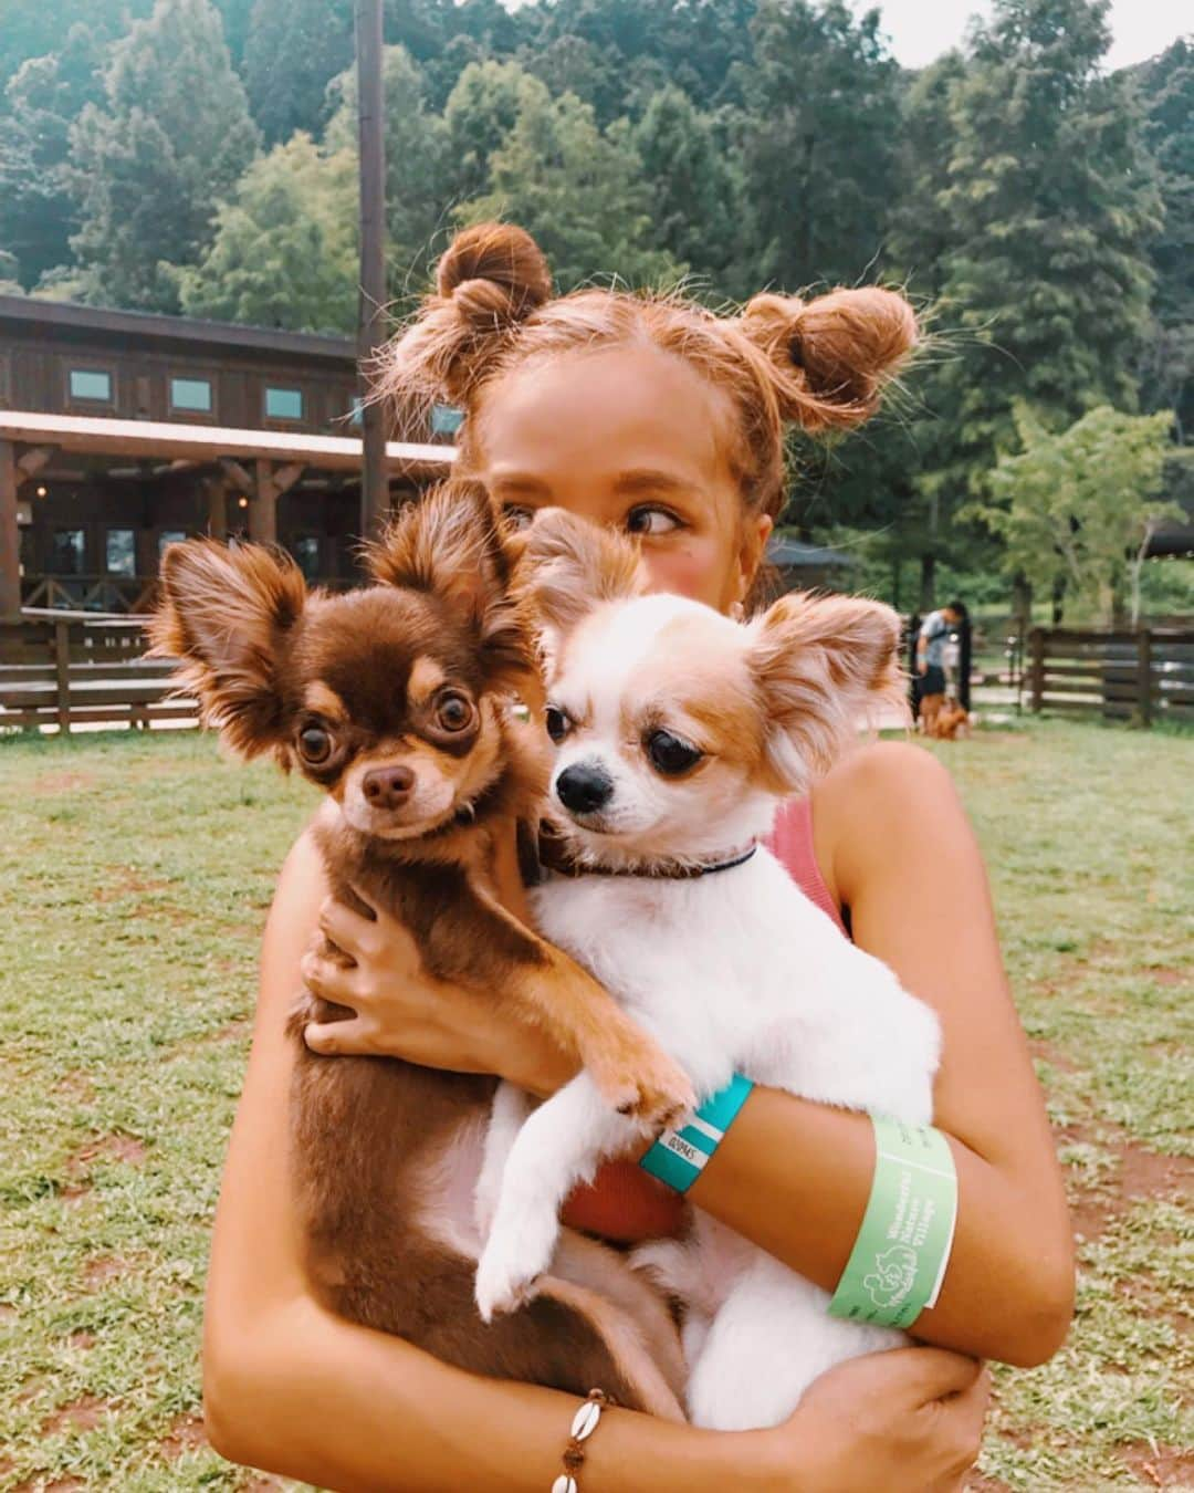
[[[145,648],[143,617],[0,621],[0,730],[197,720],[194,700],[170,699],[173,660]]]

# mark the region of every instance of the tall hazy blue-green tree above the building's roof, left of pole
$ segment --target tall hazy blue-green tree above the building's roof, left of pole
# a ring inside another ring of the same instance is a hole
[[[104,103],[72,128],[87,300],[176,311],[163,261],[193,264],[257,131],[210,0],[158,0],[112,49]]]

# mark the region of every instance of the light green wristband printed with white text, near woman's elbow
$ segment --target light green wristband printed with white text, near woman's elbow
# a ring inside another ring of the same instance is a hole
[[[958,1176],[940,1130],[872,1115],[875,1179],[830,1315],[910,1327],[936,1306],[954,1244]]]

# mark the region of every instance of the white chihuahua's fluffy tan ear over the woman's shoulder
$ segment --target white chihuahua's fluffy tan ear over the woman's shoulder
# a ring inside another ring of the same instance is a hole
[[[906,712],[900,618],[849,596],[782,596],[749,624],[772,784],[800,793],[873,724]]]

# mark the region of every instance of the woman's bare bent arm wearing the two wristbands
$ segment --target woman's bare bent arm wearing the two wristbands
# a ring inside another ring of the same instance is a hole
[[[1073,1311],[1070,1220],[987,875],[954,785],[918,746],[866,748],[815,791],[813,824],[818,861],[851,911],[855,942],[942,1020],[934,1117],[952,1141],[958,1223],[945,1285],[916,1336],[1042,1363]],[[866,1118],[757,1091],[690,1196],[833,1290],[873,1165]]]

